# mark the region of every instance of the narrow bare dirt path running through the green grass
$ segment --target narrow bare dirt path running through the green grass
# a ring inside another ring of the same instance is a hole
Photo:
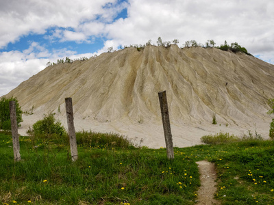
[[[213,163],[208,161],[197,162],[200,173],[201,187],[198,191],[199,205],[221,204],[214,200],[214,193],[216,192],[216,171]]]

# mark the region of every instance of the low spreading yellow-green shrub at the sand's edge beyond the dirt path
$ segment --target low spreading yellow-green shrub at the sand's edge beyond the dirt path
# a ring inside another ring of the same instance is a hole
[[[220,144],[239,140],[237,136],[229,135],[229,133],[218,133],[216,135],[205,135],[201,137],[201,142],[208,144]]]

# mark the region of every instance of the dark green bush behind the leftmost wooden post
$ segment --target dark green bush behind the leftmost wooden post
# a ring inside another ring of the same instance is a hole
[[[0,100],[0,129],[3,130],[11,130],[12,126],[10,123],[10,101],[15,102],[15,109],[16,109],[16,118],[17,118],[17,126],[21,126],[21,122],[23,122],[22,119],[22,113],[21,107],[18,104],[18,100],[14,97],[12,98],[1,98]]]

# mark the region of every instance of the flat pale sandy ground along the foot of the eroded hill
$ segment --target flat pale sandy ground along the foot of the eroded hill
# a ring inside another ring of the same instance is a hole
[[[41,120],[42,114],[23,115],[21,128],[18,129],[20,135],[26,135],[29,126],[32,126],[37,120]],[[67,129],[66,118],[62,115],[55,115],[55,118],[62,122],[62,125]],[[132,122],[128,119],[115,120],[113,122],[98,122],[97,120],[83,120],[75,118],[76,131],[95,131],[102,133],[120,133],[129,139],[132,139],[136,146],[147,146],[149,148],[166,147],[164,141],[164,131],[162,122]],[[234,124],[226,126],[225,124],[201,123],[193,124],[171,124],[171,132],[173,135],[173,144],[176,147],[188,147],[201,144],[200,138],[203,135],[210,135],[219,132],[228,132],[230,134],[242,136],[247,135],[248,131],[253,135],[255,131],[262,135],[264,139],[268,138],[269,122],[253,122],[245,126],[236,126]]]

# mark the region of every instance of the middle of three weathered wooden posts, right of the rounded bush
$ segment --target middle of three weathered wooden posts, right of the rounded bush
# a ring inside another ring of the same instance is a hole
[[[69,144],[71,146],[71,160],[76,161],[78,159],[76,134],[73,122],[73,100],[71,98],[65,98],[66,102],[66,120],[69,128]]]

